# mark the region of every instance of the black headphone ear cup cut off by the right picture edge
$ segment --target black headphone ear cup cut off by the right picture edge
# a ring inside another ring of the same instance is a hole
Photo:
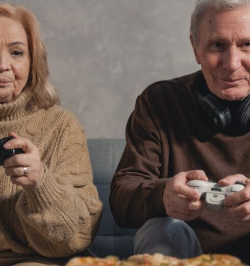
[[[237,111],[237,120],[243,129],[250,126],[250,95],[241,102]]]

